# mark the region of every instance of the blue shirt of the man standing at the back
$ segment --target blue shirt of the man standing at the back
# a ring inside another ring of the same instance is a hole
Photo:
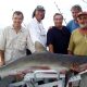
[[[74,20],[72,20],[67,23],[66,27],[70,30],[70,33],[72,33],[74,29],[78,28],[79,25]]]

